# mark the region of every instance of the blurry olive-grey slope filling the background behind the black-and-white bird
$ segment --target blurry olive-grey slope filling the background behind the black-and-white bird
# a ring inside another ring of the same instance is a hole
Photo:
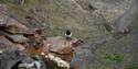
[[[72,64],[81,69],[138,69],[137,0],[1,0],[8,15],[47,36],[66,30],[84,45]]]

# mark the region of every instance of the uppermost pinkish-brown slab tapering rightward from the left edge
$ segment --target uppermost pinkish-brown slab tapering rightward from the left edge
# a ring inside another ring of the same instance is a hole
[[[6,13],[3,13],[3,11]],[[17,20],[10,18],[3,9],[0,9],[0,28],[4,28],[4,31],[12,34],[32,34],[32,31]]]

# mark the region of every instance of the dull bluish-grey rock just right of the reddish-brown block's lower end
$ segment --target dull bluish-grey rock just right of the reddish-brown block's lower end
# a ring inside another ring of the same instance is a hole
[[[71,61],[71,66],[76,69],[86,69],[91,67],[96,60],[95,55],[92,53],[92,46],[83,44],[78,46],[74,51],[74,57]]]

